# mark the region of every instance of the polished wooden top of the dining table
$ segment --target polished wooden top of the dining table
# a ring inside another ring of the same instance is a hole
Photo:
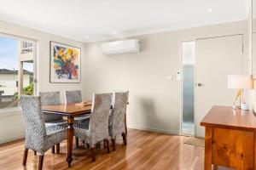
[[[61,105],[44,105],[42,111],[47,113],[59,114],[63,116],[76,116],[89,114],[91,105],[61,104]]]

